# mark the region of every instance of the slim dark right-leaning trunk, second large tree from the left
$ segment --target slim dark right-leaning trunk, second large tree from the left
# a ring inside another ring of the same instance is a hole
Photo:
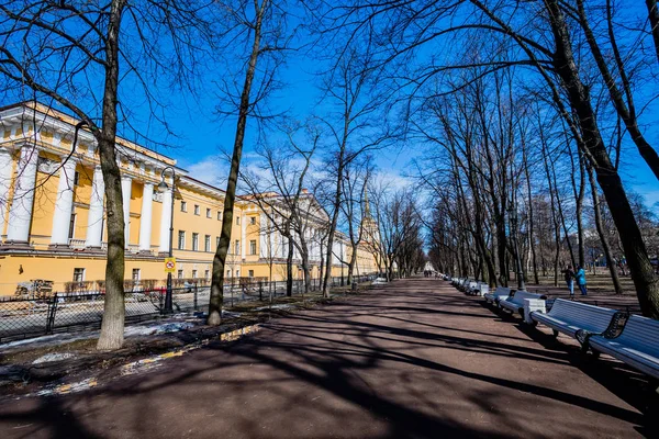
[[[252,82],[256,71],[260,46],[260,32],[264,12],[267,9],[264,0],[260,10],[257,10],[256,25],[254,26],[254,42],[252,45],[252,54],[249,55],[249,64],[245,72],[245,82],[241,94],[241,106],[238,109],[238,121],[236,123],[236,137],[234,140],[233,157],[231,160],[231,169],[228,171],[228,181],[226,182],[226,193],[224,195],[224,213],[222,214],[222,234],[220,235],[220,245],[213,257],[213,272],[211,277],[211,297],[209,303],[208,324],[217,326],[222,323],[222,305],[224,301],[224,266],[226,262],[226,254],[231,245],[231,228],[233,226],[233,210],[236,198],[236,183],[241,170],[241,157],[243,156],[243,143],[245,142],[245,128],[247,126],[247,115],[249,114],[252,92]]]

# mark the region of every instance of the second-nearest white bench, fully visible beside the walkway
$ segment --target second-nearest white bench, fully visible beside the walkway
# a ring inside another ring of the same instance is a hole
[[[555,337],[562,333],[577,338],[579,330],[585,330],[589,334],[604,333],[615,314],[615,309],[557,299],[548,313],[535,311],[530,313],[530,318],[535,323],[550,327]]]

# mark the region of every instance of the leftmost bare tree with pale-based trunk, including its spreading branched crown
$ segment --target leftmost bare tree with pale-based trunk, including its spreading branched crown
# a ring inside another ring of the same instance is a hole
[[[182,57],[192,53],[183,54],[197,40],[194,30],[203,27],[199,7],[192,1],[0,2],[0,75],[7,89],[30,90],[34,99],[65,108],[98,144],[108,218],[101,350],[122,346],[125,313],[124,200],[116,133],[120,122],[129,126],[130,122],[120,117],[120,110],[129,111],[129,105],[120,105],[120,86],[133,80],[157,105],[149,87],[158,71],[177,69],[185,80],[188,70],[178,68],[185,65]],[[153,49],[152,43],[159,49]],[[166,56],[165,46],[172,48],[171,56]]]

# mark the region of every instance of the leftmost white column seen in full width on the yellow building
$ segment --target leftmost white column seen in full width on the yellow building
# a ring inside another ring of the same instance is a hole
[[[15,243],[29,243],[30,240],[37,160],[38,150],[35,147],[24,146],[21,149],[19,176],[9,211],[7,240]]]

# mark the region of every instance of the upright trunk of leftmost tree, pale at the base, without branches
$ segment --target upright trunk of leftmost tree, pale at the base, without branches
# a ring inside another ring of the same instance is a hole
[[[108,259],[105,263],[105,297],[101,334],[97,344],[99,350],[114,350],[123,346],[124,339],[124,251],[125,224],[124,201],[121,191],[121,173],[116,164],[114,142],[116,138],[116,94],[119,86],[119,34],[124,0],[114,0],[110,7],[110,22],[107,35],[105,86],[103,90],[103,127],[97,137],[101,171],[105,184],[108,215]]]

